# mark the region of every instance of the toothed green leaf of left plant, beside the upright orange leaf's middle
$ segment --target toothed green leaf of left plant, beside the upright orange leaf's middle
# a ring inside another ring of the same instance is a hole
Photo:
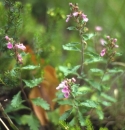
[[[25,82],[26,87],[33,88],[42,82],[42,78],[37,78],[34,80],[23,80],[23,81]]]

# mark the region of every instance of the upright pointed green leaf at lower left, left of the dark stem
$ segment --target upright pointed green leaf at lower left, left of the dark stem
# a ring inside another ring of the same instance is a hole
[[[12,107],[20,107],[20,105],[24,102],[21,97],[21,91],[19,91],[16,95],[14,95],[11,105]]]

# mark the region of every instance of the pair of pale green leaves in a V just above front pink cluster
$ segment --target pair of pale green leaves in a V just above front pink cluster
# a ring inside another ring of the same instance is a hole
[[[64,73],[65,76],[68,76],[69,74],[78,75],[77,70],[80,68],[80,65],[77,65],[73,67],[72,69],[65,67],[65,66],[59,66],[59,70]]]

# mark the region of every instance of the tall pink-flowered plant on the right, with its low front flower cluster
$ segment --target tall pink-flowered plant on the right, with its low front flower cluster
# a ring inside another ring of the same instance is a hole
[[[67,51],[76,51],[81,55],[81,63],[72,69],[60,66],[59,69],[64,73],[64,76],[71,77],[71,79],[63,80],[57,90],[61,90],[57,93],[56,101],[60,105],[68,105],[69,108],[64,112],[60,121],[66,121],[70,119],[70,126],[80,125],[81,127],[87,126],[86,119],[92,118],[93,114],[97,114],[99,119],[104,119],[103,106],[111,106],[111,102],[116,102],[116,99],[107,95],[107,87],[105,77],[108,75],[108,65],[115,59],[116,38],[110,38],[107,36],[107,41],[103,40],[100,54],[93,49],[89,51],[87,49],[87,41],[96,37],[93,33],[88,33],[87,22],[88,18],[81,10],[79,10],[78,4],[69,3],[71,13],[67,15],[66,22],[70,19],[74,19],[75,26],[68,27],[67,29],[75,30],[79,33],[80,43],[68,43],[63,45],[63,49]],[[97,31],[101,31],[101,27],[96,27]],[[79,45],[79,46],[78,46]],[[89,58],[88,58],[89,56]],[[89,72],[85,69],[90,64],[96,64],[102,62],[106,58],[106,68],[91,68]],[[91,76],[89,76],[91,74]],[[75,78],[74,78],[75,77]],[[98,78],[97,78],[98,77]],[[104,101],[105,100],[105,101]],[[109,100],[109,101],[107,101]]]

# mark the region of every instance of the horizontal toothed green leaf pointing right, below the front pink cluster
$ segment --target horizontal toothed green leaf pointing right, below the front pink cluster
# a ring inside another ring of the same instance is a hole
[[[97,108],[99,104],[92,100],[86,100],[85,102],[82,102],[80,104],[81,106],[91,107],[91,108]]]

